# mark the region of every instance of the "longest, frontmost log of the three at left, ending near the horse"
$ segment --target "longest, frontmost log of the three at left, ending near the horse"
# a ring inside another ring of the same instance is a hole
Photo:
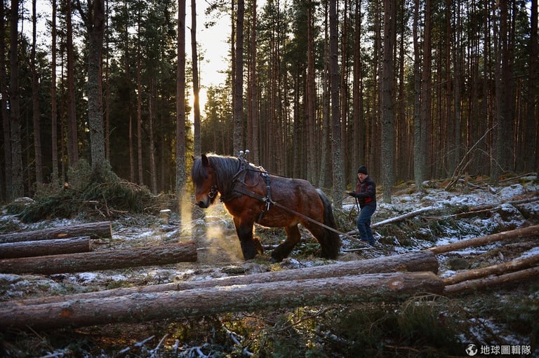
[[[54,256],[23,257],[0,260],[0,273],[76,273],[135,266],[166,265],[197,261],[194,242],[116,251],[86,252]]]

